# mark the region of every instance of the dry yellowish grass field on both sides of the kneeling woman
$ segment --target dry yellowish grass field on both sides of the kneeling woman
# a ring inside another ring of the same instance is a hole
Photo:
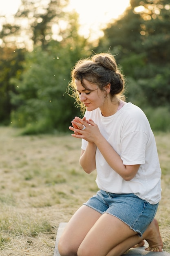
[[[155,138],[162,168],[156,217],[170,252],[170,134]],[[79,166],[80,146],[70,135],[18,136],[0,127],[0,256],[53,256],[59,223],[97,191],[96,173]]]

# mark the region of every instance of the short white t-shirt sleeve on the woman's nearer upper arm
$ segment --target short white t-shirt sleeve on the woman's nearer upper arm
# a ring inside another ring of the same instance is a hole
[[[145,164],[150,124],[143,111],[135,108],[124,120],[121,159],[124,164]]]

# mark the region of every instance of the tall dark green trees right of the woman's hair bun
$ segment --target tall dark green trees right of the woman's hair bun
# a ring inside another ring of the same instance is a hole
[[[146,99],[140,101],[139,97],[139,106],[144,102],[146,106],[170,106],[169,1],[131,0],[130,4],[124,16],[104,30],[97,51],[103,50],[103,45],[110,47],[127,76],[127,84],[135,80]]]

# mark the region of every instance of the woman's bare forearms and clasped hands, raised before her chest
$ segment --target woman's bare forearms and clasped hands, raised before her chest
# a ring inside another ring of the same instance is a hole
[[[79,160],[81,166],[86,173],[91,173],[96,168],[95,153],[97,147],[102,153],[106,162],[115,172],[117,172],[126,181],[132,180],[132,178],[136,175],[140,164],[123,164],[121,157],[108,143],[108,141],[106,141],[106,139],[102,136],[98,126],[94,123],[93,120],[89,119],[85,122],[79,117],[76,117],[76,119],[72,121],[72,124],[74,128],[69,127],[70,130],[73,130],[75,132],[74,134],[72,134],[72,136],[88,141],[86,150],[84,151]],[[79,130],[75,128],[78,127],[79,124],[86,126],[86,128],[84,130]]]

